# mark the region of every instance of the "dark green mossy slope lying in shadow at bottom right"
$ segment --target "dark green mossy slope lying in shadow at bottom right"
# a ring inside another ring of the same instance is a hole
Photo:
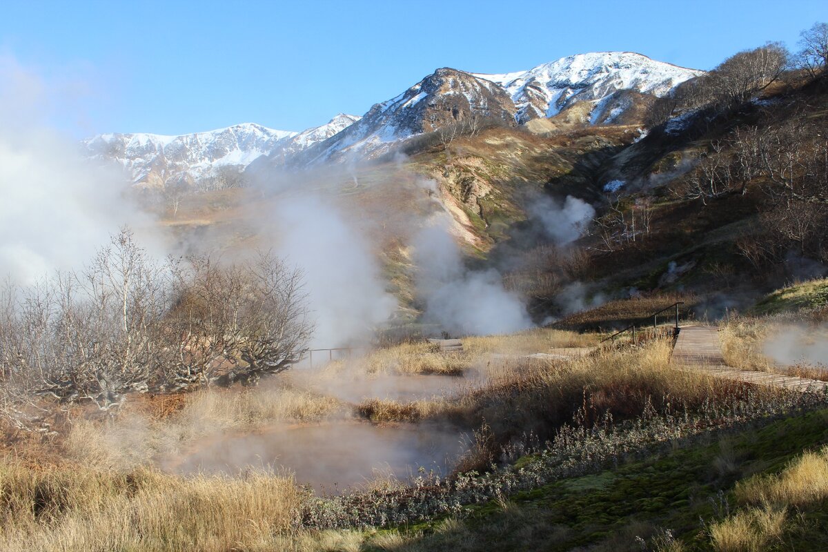
[[[828,410],[711,435],[660,457],[472,506],[462,521],[399,528],[404,543],[394,550],[657,550],[664,530],[682,550],[711,550],[704,524],[736,508],[737,482],[778,473],[803,450],[826,443]],[[795,523],[777,550],[826,550],[811,546],[826,544],[826,505],[789,519]]]

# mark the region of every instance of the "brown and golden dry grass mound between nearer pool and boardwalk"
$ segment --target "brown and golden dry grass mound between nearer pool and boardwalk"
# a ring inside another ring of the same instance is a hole
[[[631,419],[647,409],[695,409],[705,401],[746,392],[739,382],[669,365],[668,340],[628,350],[604,350],[569,361],[523,358],[482,386],[459,396],[432,401],[368,400],[359,414],[377,423],[449,422],[467,429],[487,428],[487,450],[479,458],[497,458],[500,447],[534,434],[547,439],[573,416],[586,425],[610,415]],[[773,389],[761,390],[769,395]],[[479,451],[481,452],[481,451]],[[464,466],[478,469],[480,466]]]

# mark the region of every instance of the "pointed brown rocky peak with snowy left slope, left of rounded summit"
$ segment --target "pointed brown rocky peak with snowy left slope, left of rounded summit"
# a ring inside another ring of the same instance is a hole
[[[506,91],[490,80],[443,68],[395,98],[375,104],[359,122],[308,148],[300,164],[344,156],[374,157],[395,142],[473,119],[515,124],[515,107]]]

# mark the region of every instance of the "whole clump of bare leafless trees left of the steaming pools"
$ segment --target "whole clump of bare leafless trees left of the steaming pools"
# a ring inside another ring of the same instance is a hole
[[[0,414],[253,384],[299,361],[312,330],[301,272],[272,254],[158,262],[124,228],[84,270],[0,290]]]

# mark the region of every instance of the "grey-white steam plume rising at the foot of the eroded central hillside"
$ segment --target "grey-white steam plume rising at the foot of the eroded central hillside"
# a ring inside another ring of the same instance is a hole
[[[532,327],[520,298],[503,288],[498,271],[469,271],[451,237],[448,215],[423,228],[414,240],[420,273],[417,291],[426,302],[424,319],[455,335],[508,334]]]

